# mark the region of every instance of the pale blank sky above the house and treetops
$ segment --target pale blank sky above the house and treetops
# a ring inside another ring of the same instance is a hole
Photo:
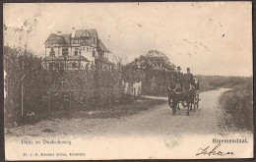
[[[160,50],[183,72],[252,76],[251,2],[5,4],[4,25],[5,45],[38,56],[51,32],[96,28],[113,62]]]

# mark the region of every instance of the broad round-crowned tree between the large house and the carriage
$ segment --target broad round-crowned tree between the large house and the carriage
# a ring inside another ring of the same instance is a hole
[[[122,68],[122,79],[130,83],[143,81],[143,91],[148,94],[160,94],[160,87],[168,84],[169,73],[175,71],[166,55],[158,50],[151,50],[146,55],[135,58]],[[157,86],[152,87],[152,82]],[[159,89],[159,90],[157,90]]]

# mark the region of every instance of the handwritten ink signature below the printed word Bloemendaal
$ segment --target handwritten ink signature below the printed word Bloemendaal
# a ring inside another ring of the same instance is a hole
[[[218,150],[218,148],[221,146],[221,143],[218,143],[214,149],[211,150],[210,146],[207,146],[206,148],[199,148],[201,152],[197,153],[196,155],[219,155],[219,156],[224,156],[224,155],[233,155],[233,152],[223,152]]]

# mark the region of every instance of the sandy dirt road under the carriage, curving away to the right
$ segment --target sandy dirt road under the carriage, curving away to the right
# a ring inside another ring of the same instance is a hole
[[[221,134],[218,114],[218,99],[226,89],[200,93],[199,110],[186,116],[181,108],[175,116],[167,105],[121,119],[55,119],[41,121],[34,126],[10,130],[10,135],[59,136],[59,135],[168,135]],[[160,98],[160,97],[155,97]],[[163,97],[162,97],[163,98]],[[166,97],[164,97],[166,99]],[[8,136],[8,135],[7,135]]]

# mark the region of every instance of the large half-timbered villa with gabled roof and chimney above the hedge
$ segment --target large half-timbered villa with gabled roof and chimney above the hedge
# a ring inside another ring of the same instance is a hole
[[[70,34],[51,33],[45,41],[46,70],[85,70],[96,68],[111,71],[111,53],[99,39],[96,29],[75,29]]]

